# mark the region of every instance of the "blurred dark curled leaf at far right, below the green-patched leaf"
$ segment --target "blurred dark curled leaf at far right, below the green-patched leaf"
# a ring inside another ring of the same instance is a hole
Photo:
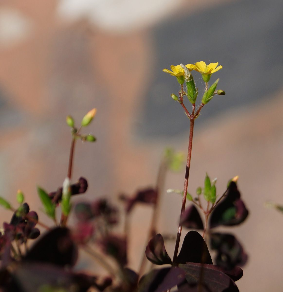
[[[216,264],[225,270],[244,265],[247,261],[247,254],[232,234],[212,233],[210,244],[212,249],[217,250]]]

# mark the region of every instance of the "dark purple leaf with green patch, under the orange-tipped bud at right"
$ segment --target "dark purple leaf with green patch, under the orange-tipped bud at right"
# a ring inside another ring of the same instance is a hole
[[[231,181],[227,194],[210,215],[210,227],[238,225],[246,219],[248,214],[249,211],[240,199],[240,193],[237,190],[236,183]]]

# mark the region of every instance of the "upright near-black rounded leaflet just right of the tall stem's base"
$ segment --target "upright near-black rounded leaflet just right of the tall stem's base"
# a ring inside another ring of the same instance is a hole
[[[184,238],[176,263],[212,264],[211,256],[202,236],[197,231],[190,231]]]

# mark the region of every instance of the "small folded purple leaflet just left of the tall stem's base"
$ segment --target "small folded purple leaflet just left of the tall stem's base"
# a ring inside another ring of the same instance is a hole
[[[149,261],[155,265],[172,264],[164,246],[164,240],[161,234],[156,234],[148,242],[145,248],[145,255]]]

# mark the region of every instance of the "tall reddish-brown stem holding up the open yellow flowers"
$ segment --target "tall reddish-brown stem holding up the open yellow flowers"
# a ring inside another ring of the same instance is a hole
[[[190,119],[189,147],[188,147],[187,166],[186,166],[185,183],[184,183],[184,193],[183,193],[183,200],[182,200],[180,218],[183,215],[183,213],[185,211],[185,206],[186,206],[186,197],[187,197],[187,190],[188,190],[188,180],[189,180],[191,154],[192,154],[192,135],[193,135],[193,132],[194,132],[194,122],[195,122],[194,118]],[[180,244],[180,238],[181,238],[181,232],[182,232],[182,225],[180,225],[180,223],[179,223],[178,233],[177,233],[177,238],[176,238],[176,244],[175,244],[175,250],[174,250],[174,255],[173,255],[173,261],[172,261],[173,263],[177,258],[179,244]]]

